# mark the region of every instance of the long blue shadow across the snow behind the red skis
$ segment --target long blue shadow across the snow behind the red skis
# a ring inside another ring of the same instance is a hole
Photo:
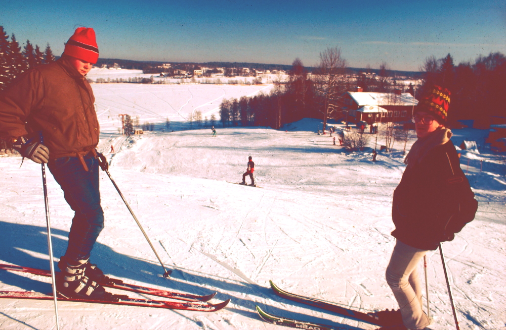
[[[53,234],[52,242],[54,254],[55,256],[63,255],[67,247],[66,237],[68,237],[68,232],[54,228],[51,231]],[[50,268],[47,257],[48,240],[46,227],[20,225],[0,221],[0,232],[4,233],[3,240],[0,242],[2,262],[33,268]],[[157,285],[165,287],[167,290],[177,290],[200,295],[207,295],[214,292],[213,289],[203,287],[205,285],[211,288],[220,289],[222,292],[237,292],[239,296],[242,294],[249,294],[264,299],[289,303],[291,305],[308,307],[304,304],[280,298],[274,294],[270,288],[265,288],[257,284],[213,277],[212,275],[171,267],[171,265],[165,264],[166,267],[173,269],[172,280],[167,280],[162,278],[163,271],[158,263],[118,253],[100,242],[95,243],[92,253],[92,262],[97,263],[104,273],[109,274],[112,277],[120,277],[134,282],[148,283],[148,285]],[[55,269],[58,270],[56,262]],[[49,293],[52,291],[49,278],[47,279],[47,282],[40,282],[22,276],[21,273],[0,270],[0,281],[7,286],[17,287],[26,291],[33,290],[43,293]],[[9,288],[5,290],[12,291],[16,289]],[[230,298],[222,292],[217,294],[217,299],[225,300]],[[135,294],[130,293],[130,295]],[[156,297],[150,298],[158,299]],[[255,306],[258,304],[256,301],[233,297],[232,303],[235,306],[240,306],[244,309],[228,307],[228,310],[252,319],[259,319],[260,321],[260,318],[255,311]],[[314,323],[327,323],[330,325],[333,323],[327,319],[287,311],[274,307],[270,304],[259,305],[267,312],[278,316],[301,319]],[[9,315],[4,315],[11,318]],[[353,330],[358,328],[349,326],[349,329]]]

